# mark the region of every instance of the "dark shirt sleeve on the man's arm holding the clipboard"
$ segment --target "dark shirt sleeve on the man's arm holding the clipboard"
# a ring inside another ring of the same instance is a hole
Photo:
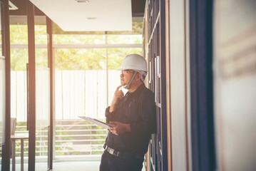
[[[140,99],[139,115],[141,120],[130,123],[132,133],[152,134],[156,133],[156,108],[153,93],[145,93]]]

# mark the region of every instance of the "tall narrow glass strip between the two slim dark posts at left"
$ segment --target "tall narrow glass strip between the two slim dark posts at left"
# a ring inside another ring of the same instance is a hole
[[[47,43],[46,26],[35,26],[38,43]],[[36,48],[36,170],[47,169],[48,130],[50,125],[50,68],[48,68],[48,51]]]

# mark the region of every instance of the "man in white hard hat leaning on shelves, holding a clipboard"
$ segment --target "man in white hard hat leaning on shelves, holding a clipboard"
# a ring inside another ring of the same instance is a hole
[[[115,127],[109,128],[101,171],[141,170],[150,135],[156,130],[154,94],[143,83],[147,75],[145,58],[128,55],[121,70],[121,86],[128,93],[123,95],[118,86],[111,106],[106,108],[107,123]]]

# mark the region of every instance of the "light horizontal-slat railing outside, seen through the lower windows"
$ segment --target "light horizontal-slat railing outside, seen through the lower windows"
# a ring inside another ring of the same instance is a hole
[[[101,155],[108,130],[84,120],[56,120],[53,138],[54,157]],[[17,123],[15,133],[28,133],[26,123]],[[29,140],[24,140],[24,156],[28,156]],[[20,142],[16,141],[16,156],[20,156]],[[48,130],[36,130],[36,156],[47,156]]]

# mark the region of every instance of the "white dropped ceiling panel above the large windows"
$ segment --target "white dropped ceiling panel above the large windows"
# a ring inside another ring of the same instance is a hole
[[[63,31],[130,31],[131,0],[30,0]]]

